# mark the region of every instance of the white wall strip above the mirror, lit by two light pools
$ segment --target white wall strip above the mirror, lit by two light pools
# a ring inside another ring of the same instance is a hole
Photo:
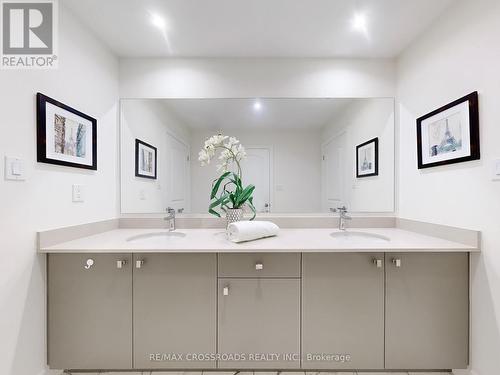
[[[394,97],[393,60],[122,59],[122,98]]]

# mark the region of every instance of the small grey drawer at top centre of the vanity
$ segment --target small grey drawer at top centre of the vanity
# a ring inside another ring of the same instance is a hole
[[[300,253],[219,254],[219,277],[300,277]]]

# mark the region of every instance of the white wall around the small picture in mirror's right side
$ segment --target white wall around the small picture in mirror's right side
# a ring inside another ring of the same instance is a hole
[[[345,202],[353,212],[394,211],[394,100],[354,100],[323,129],[323,143],[345,132]],[[378,176],[356,178],[356,146],[379,138]],[[323,211],[325,211],[323,207]]]

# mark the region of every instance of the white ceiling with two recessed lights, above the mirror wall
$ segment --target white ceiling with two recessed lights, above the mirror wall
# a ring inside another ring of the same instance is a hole
[[[392,58],[454,1],[64,0],[64,5],[120,57]],[[153,15],[164,19],[163,31],[153,26]],[[366,25],[354,29],[356,15]]]

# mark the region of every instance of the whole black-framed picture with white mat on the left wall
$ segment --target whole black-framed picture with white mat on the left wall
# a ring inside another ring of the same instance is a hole
[[[97,120],[37,93],[37,161],[97,169]]]

